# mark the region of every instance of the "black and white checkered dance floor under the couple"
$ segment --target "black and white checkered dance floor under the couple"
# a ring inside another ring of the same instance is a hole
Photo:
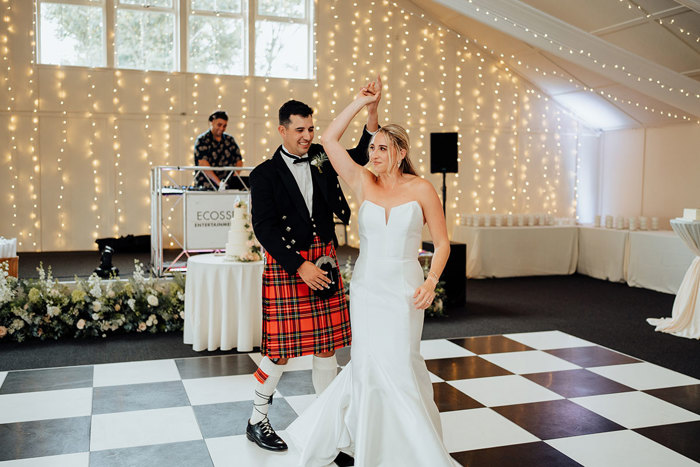
[[[445,444],[470,466],[690,466],[700,380],[559,332],[428,340]],[[339,352],[347,362],[348,349]],[[682,356],[679,356],[682,358]],[[0,372],[0,466],[296,465],[245,437],[259,354]],[[270,410],[314,399],[290,363]]]

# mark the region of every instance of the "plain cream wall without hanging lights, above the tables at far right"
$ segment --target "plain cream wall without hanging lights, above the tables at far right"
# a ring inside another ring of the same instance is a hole
[[[658,217],[700,207],[700,126],[610,131],[601,151],[600,214]]]

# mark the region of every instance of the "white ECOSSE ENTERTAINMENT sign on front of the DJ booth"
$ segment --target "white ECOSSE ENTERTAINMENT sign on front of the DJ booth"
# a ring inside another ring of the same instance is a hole
[[[185,192],[185,250],[223,250],[239,199],[250,206],[247,191]]]

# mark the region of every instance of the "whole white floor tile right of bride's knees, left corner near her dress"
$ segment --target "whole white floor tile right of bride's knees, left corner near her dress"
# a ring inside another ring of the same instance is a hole
[[[487,407],[563,399],[520,375],[491,376],[449,381],[448,384]]]

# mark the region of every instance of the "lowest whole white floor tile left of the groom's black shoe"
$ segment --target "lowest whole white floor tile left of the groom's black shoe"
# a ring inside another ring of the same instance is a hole
[[[192,407],[93,415],[90,450],[202,439]]]

